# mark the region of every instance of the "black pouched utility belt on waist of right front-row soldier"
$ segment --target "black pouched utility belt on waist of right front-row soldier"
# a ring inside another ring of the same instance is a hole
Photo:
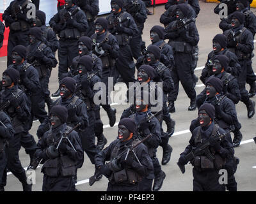
[[[217,169],[220,170],[224,167],[226,160],[223,159],[220,154],[214,154],[215,159],[208,159],[206,156],[196,156],[191,164],[198,171]]]

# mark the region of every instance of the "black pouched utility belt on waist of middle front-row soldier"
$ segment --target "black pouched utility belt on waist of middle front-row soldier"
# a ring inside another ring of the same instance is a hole
[[[112,173],[111,177],[109,177],[109,182],[111,184],[137,184],[142,180],[141,175],[139,175],[136,171],[132,169],[123,169],[120,171],[116,171]]]

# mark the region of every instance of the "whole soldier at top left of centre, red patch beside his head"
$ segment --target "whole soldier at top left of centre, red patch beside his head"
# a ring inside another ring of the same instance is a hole
[[[58,80],[60,82],[63,73],[68,72],[68,67],[78,54],[77,41],[86,34],[88,22],[84,12],[76,6],[75,0],[65,0],[65,8],[56,13],[49,24],[60,37],[58,49]],[[52,96],[60,96],[60,90],[57,90]]]

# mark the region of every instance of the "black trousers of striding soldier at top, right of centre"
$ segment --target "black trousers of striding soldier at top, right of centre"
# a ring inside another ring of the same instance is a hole
[[[174,60],[176,68],[172,69],[174,89],[169,93],[168,101],[176,101],[179,93],[179,82],[181,82],[188,98],[195,99],[196,91],[193,87],[193,75],[191,74],[192,56],[189,53],[175,52]]]

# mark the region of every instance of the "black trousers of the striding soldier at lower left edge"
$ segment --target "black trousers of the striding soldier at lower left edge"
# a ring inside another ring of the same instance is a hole
[[[13,136],[12,140],[9,141],[8,147],[5,149],[7,164],[6,167],[10,170],[21,183],[27,182],[27,177],[24,168],[20,163],[19,159],[20,150],[20,133]],[[1,186],[6,186],[7,172],[6,168],[3,173]]]

